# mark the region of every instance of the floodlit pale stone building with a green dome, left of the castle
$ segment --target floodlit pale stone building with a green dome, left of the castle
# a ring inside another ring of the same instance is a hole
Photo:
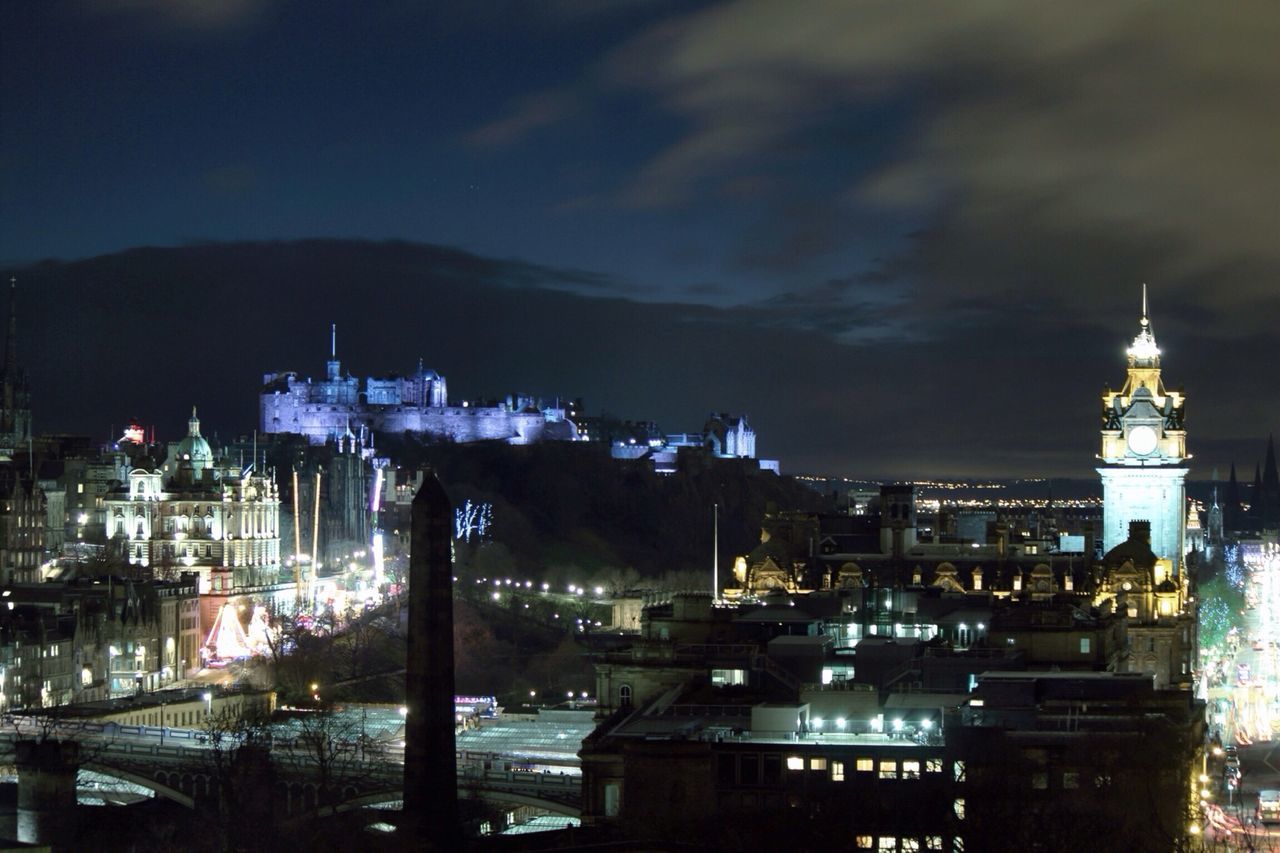
[[[131,565],[161,578],[198,573],[201,596],[216,598],[206,601],[205,624],[228,597],[266,594],[284,580],[275,480],[216,462],[195,411],[165,465],[131,470],[104,497],[104,515],[109,542]]]

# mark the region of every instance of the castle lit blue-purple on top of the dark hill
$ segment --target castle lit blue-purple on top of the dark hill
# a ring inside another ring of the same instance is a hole
[[[360,380],[342,373],[337,330],[325,378],[312,382],[293,371],[265,374],[260,412],[264,433],[306,435],[312,444],[365,432],[407,432],[456,443],[530,444],[577,438],[577,428],[559,406],[543,407],[527,398],[497,406],[451,406],[444,377],[421,361],[410,377],[367,378],[361,392]]]

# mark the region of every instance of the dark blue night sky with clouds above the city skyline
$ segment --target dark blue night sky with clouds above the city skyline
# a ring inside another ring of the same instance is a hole
[[[247,432],[337,320],[360,375],[746,412],[785,471],[1091,476],[1146,282],[1192,476],[1252,476],[1276,45],[1271,3],[4,3],[36,425]]]

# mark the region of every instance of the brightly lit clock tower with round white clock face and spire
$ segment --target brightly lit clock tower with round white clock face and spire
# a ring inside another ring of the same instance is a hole
[[[1151,549],[1167,560],[1174,579],[1183,574],[1187,540],[1185,398],[1166,391],[1160,378],[1160,347],[1147,316],[1142,288],[1138,337],[1126,351],[1129,375],[1120,391],[1102,394],[1102,547],[1129,538],[1130,521],[1151,525]]]

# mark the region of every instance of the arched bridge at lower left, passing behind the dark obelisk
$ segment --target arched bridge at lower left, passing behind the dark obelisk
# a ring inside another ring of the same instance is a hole
[[[81,771],[120,780],[187,808],[201,808],[219,797],[241,772],[243,765],[237,762],[247,758],[270,767],[273,797],[285,818],[396,803],[404,795],[402,742],[321,740],[273,733],[255,743],[210,738],[198,730],[96,722],[45,724],[38,730],[23,730],[18,724],[13,731],[0,731],[0,763],[13,765],[15,742],[41,738],[79,744]],[[460,736],[463,740],[465,735]],[[577,767],[534,763],[532,754],[527,749],[508,754],[460,749],[458,795],[579,817],[582,790]]]

